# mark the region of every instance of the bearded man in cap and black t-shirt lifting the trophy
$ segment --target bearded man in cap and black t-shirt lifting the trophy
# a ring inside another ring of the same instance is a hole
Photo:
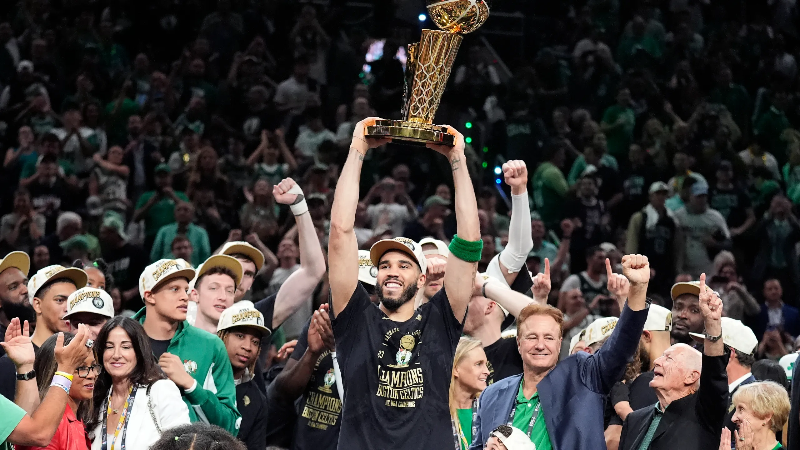
[[[450,448],[451,369],[482,247],[464,137],[448,127],[454,147],[427,144],[447,156],[455,187],[458,235],[450,244],[444,287],[414,309],[412,300],[425,286],[429,268],[422,247],[407,238],[384,239],[370,249],[378,267],[376,307],[358,284],[354,232],[363,159],[370,147],[388,142],[364,136],[374,120],[356,124],[331,210],[330,293],[346,388],[339,447]],[[432,275],[438,276],[443,266],[435,259]]]

